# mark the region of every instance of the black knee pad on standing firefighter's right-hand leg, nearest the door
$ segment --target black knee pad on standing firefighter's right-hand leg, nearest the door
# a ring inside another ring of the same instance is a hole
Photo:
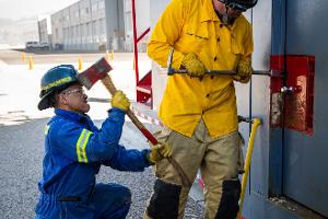
[[[239,210],[241,182],[223,181],[222,196],[215,219],[235,219]]]

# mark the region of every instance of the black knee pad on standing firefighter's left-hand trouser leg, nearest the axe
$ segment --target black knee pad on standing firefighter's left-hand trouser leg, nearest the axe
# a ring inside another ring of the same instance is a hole
[[[156,180],[147,214],[153,219],[176,219],[180,192],[181,186]]]

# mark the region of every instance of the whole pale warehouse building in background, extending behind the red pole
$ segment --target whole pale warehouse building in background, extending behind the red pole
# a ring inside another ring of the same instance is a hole
[[[139,35],[150,26],[150,0],[136,3]],[[133,49],[131,0],[81,0],[51,14],[50,20],[54,49]],[[139,43],[140,51],[145,51],[147,39]]]

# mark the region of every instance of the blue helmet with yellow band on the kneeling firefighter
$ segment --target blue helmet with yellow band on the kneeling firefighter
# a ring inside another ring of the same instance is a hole
[[[51,94],[78,82],[77,73],[72,65],[60,65],[48,70],[40,80],[40,101],[37,108],[42,111],[51,107]]]

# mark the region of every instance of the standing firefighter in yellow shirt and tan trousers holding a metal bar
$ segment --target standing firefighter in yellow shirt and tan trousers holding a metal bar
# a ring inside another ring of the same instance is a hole
[[[172,0],[160,18],[149,56],[187,74],[168,77],[159,110],[165,128],[157,138],[173,147],[173,157],[191,181],[200,169],[206,218],[233,219],[238,211],[241,138],[234,80],[249,81],[251,25],[242,14],[257,0]],[[236,70],[235,76],[209,76],[208,70]],[[183,187],[167,161],[156,164],[160,177],[145,218],[183,218],[190,187]]]

